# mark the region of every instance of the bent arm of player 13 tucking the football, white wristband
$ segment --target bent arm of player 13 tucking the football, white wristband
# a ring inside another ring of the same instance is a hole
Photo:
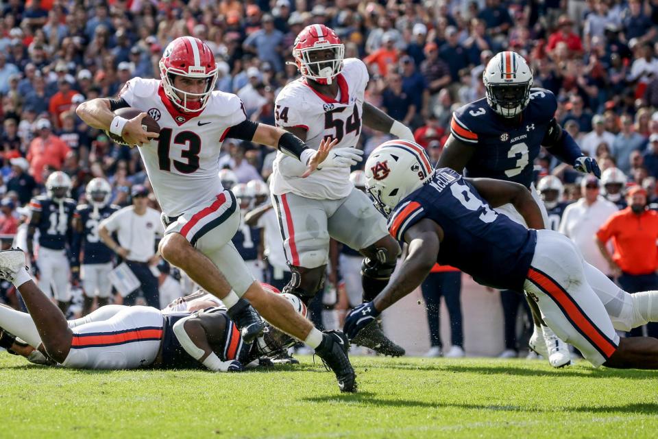
[[[77,106],[75,113],[88,126],[117,134],[130,145],[141,145],[149,143],[151,139],[157,139],[160,134],[147,132],[142,128],[142,119],[147,115],[145,112],[132,119],[124,119],[112,112],[127,106],[123,99],[97,97]]]

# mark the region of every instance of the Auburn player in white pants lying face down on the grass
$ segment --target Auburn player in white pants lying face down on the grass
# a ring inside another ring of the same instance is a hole
[[[0,276],[10,280],[14,265],[25,263],[21,250],[0,254]],[[22,270],[22,269],[19,269]],[[34,282],[16,285],[21,294],[45,295]],[[265,291],[273,293],[268,285]],[[299,299],[284,295],[300,313]],[[33,302],[33,305],[34,302]],[[265,331],[245,343],[226,307],[214,296],[197,292],[171,302],[162,310],[152,307],[106,305],[84,318],[66,322],[64,316],[45,318],[52,307],[37,301],[32,316],[0,307],[0,345],[40,364],[69,368],[203,368],[215,372],[258,366],[295,343],[292,337],[264,322]],[[34,318],[34,320],[33,320]],[[66,324],[66,327],[62,325]],[[11,335],[10,335],[11,333]],[[16,340],[24,340],[25,343]],[[68,351],[68,352],[67,352]],[[271,362],[268,362],[271,364]]]

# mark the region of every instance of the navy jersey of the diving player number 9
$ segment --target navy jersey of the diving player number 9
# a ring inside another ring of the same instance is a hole
[[[481,285],[522,291],[537,233],[499,215],[476,189],[449,168],[439,168],[427,185],[409,194],[389,217],[389,233],[404,233],[428,218],[443,229],[437,262],[452,265]]]

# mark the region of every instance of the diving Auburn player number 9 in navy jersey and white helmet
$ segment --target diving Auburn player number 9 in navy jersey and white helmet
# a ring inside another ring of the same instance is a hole
[[[422,147],[399,140],[377,147],[365,173],[367,191],[389,215],[389,232],[409,244],[409,254],[385,289],[345,319],[348,337],[412,292],[438,262],[482,285],[525,290],[546,324],[594,366],[658,369],[657,339],[620,339],[615,331],[658,321],[658,292],[624,292],[585,262],[570,239],[544,230],[526,187],[432,169]],[[529,230],[493,211],[506,203]]]

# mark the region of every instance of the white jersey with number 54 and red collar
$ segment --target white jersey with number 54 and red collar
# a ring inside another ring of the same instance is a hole
[[[335,148],[355,146],[361,134],[363,99],[369,76],[365,64],[356,58],[343,61],[343,73],[337,76],[336,99],[319,94],[304,78],[285,86],[276,97],[276,124],[281,128],[306,130],[306,145],[317,150],[325,137],[339,139]],[[275,195],[292,192],[316,200],[339,200],[350,194],[350,168],[326,168],[308,178],[287,173],[286,163],[296,159],[278,152],[273,164],[271,191]],[[296,175],[300,175],[296,174]]]

